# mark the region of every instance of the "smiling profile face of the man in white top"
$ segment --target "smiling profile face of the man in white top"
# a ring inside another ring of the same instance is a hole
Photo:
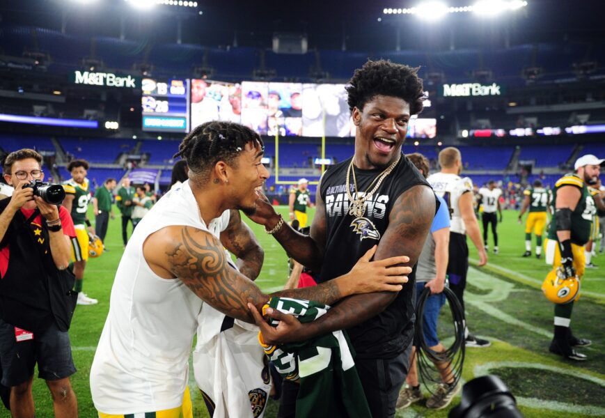
[[[269,171],[260,162],[263,154],[258,142],[249,142],[235,159],[235,164],[230,166],[230,194],[235,208],[242,210],[246,215],[256,212],[259,191],[269,178]]]

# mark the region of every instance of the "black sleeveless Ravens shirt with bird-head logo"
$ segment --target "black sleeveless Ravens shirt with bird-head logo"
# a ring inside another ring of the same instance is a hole
[[[349,272],[368,249],[378,244],[388,227],[393,204],[402,193],[414,185],[430,187],[414,164],[402,155],[397,166],[366,202],[363,217],[355,218],[348,213],[346,179],[350,162],[351,158],[330,167],[322,178],[321,196],[326,208],[327,231],[320,283]],[[366,192],[382,171],[355,168],[359,192]],[[356,199],[352,175],[349,187]],[[415,275],[416,266],[393,303],[374,318],[347,330],[358,357],[392,358],[407,348],[414,334],[412,295]]]

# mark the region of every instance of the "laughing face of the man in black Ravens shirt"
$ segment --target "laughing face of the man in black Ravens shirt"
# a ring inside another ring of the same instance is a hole
[[[409,103],[393,96],[377,95],[363,110],[353,109],[355,164],[360,169],[386,168],[401,153],[407,134]]]

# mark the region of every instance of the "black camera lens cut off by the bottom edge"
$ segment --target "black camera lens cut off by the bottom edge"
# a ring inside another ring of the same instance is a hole
[[[498,376],[474,378],[462,387],[462,401],[448,418],[523,418],[517,401]]]

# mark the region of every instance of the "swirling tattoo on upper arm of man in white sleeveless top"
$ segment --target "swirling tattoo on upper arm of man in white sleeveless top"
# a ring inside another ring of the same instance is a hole
[[[173,251],[166,253],[171,272],[212,307],[251,320],[246,303],[262,304],[267,297],[228,265],[218,240],[188,226],[182,228],[180,238]]]

